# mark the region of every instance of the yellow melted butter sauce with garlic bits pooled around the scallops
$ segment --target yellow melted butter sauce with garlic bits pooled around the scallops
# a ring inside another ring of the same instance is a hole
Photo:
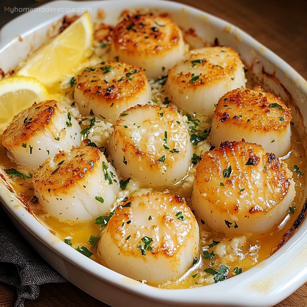
[[[101,59],[100,59],[101,61]],[[84,66],[89,66],[84,64]],[[73,101],[73,88],[62,89],[60,84],[55,84],[53,87],[48,89],[52,95],[52,99],[67,98],[69,101]],[[161,87],[153,88],[153,102],[152,104],[162,105],[164,99]],[[163,105],[165,106],[165,105]],[[209,129],[211,125],[211,119],[205,117],[196,118],[200,120],[199,129]],[[80,120],[81,118],[77,118]],[[81,125],[83,129],[85,126]],[[295,131],[295,126],[291,126],[292,137],[291,137],[291,154],[290,157],[284,160],[288,164],[290,170],[293,169],[293,165],[298,165],[300,170],[306,174],[306,161],[305,151],[301,144],[300,138]],[[2,135],[0,136],[0,143],[2,143]],[[200,142],[197,146],[193,146],[194,152],[198,155],[204,153],[210,148],[210,137]],[[3,169],[16,168],[21,171],[20,166],[10,161],[7,157],[6,149],[0,145],[0,167]],[[196,171],[195,166],[191,165],[191,168],[187,176],[177,184],[169,187],[171,194],[177,194],[181,197],[185,197],[185,200],[189,206],[191,206],[191,193],[193,188],[194,173]],[[307,175],[307,174],[306,174]],[[293,200],[292,206],[295,207],[293,214],[288,214],[285,220],[280,225],[275,225],[270,231],[263,235],[246,234],[237,238],[226,237],[222,233],[212,231],[206,224],[203,225],[202,221],[196,214],[196,219],[200,228],[200,250],[197,258],[199,259],[202,254],[202,247],[206,247],[212,243],[212,240],[220,241],[219,244],[212,248],[208,248],[209,252],[214,252],[214,258],[209,261],[203,259],[203,265],[201,268],[195,270],[181,282],[165,282],[164,284],[152,286],[158,286],[168,289],[182,289],[190,287],[204,286],[212,284],[214,282],[211,274],[204,272],[207,268],[218,270],[220,264],[230,268],[229,277],[235,276],[233,269],[235,267],[242,268],[243,271],[250,269],[252,266],[261,262],[265,258],[269,257],[272,249],[274,249],[281,241],[283,235],[293,225],[301,212],[304,204],[304,190],[305,190],[305,176],[299,176],[293,172],[293,179],[295,181],[296,196]],[[52,233],[55,233],[61,240],[71,239],[72,247],[77,248],[81,246],[87,247],[93,255],[91,259],[99,263],[100,260],[95,254],[95,248],[89,243],[91,235],[98,237],[100,232],[99,225],[96,225],[94,220],[87,222],[79,222],[78,220],[65,221],[56,219],[55,217],[49,216],[46,212],[40,208],[39,204],[35,203],[33,199],[33,185],[31,180],[24,180],[22,177],[9,178],[10,183],[14,187],[16,193],[25,201],[28,202],[33,215],[41,221],[41,223],[48,228]],[[60,218],[60,217],[59,217]],[[191,259],[192,266],[192,259]],[[196,274],[196,275],[195,275]]]

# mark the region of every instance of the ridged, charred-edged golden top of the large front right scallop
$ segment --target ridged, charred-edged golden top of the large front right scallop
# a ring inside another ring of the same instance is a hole
[[[266,211],[288,192],[292,173],[260,145],[223,142],[201,155],[194,187],[221,212]]]

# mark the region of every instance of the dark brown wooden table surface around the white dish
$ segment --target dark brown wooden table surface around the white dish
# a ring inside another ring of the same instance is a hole
[[[3,6],[25,7],[41,3],[34,0],[2,0]],[[200,10],[223,18],[249,33],[288,62],[307,79],[307,1],[299,0],[180,0]],[[18,4],[20,4],[18,6]],[[15,14],[3,13],[0,26]],[[1,235],[1,234],[0,234]],[[0,307],[12,307],[16,288],[0,283]],[[40,297],[26,300],[25,307],[103,307],[107,306],[87,295],[70,282],[41,286]],[[307,283],[275,307],[306,307]]]

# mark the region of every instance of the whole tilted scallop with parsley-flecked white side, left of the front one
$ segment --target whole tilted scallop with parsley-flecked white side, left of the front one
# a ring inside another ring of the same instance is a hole
[[[49,158],[32,181],[39,204],[60,220],[84,221],[106,214],[119,191],[114,168],[91,146]]]

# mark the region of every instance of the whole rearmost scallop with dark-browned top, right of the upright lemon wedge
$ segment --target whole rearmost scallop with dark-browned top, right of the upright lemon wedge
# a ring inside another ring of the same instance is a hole
[[[167,75],[186,52],[181,30],[167,15],[127,16],[114,29],[111,56],[138,65],[147,78]]]

